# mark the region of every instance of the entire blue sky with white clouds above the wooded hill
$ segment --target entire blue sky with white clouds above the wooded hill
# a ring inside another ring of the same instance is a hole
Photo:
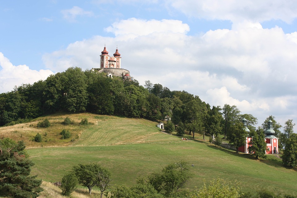
[[[0,92],[96,68],[118,46],[140,84],[284,125],[297,120],[296,18],[297,2],[277,0],[0,0]]]

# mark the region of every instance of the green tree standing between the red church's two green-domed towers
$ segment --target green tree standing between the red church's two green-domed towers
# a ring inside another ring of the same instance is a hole
[[[256,159],[266,158],[265,151],[267,144],[265,142],[265,134],[263,128],[258,127],[256,131],[251,131],[249,136],[252,138],[249,143],[249,153],[256,157]]]

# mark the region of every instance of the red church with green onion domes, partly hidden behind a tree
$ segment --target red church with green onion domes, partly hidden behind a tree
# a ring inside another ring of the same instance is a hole
[[[243,129],[247,131],[248,133],[250,130],[248,129],[248,124],[247,124],[247,119],[243,118],[242,123],[243,123]],[[278,154],[278,138],[274,136],[275,131],[273,130],[272,127],[272,121],[268,121],[268,126],[265,131],[265,141],[267,144],[267,149],[266,149],[266,154]],[[249,153],[249,143],[251,142],[252,137],[246,137],[245,140],[245,145],[241,146],[238,148],[238,151],[243,152],[243,153]]]

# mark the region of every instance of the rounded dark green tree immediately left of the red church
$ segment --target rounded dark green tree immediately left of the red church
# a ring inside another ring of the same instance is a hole
[[[235,122],[228,130],[227,140],[229,140],[229,144],[233,143],[233,146],[236,148],[236,153],[238,153],[238,148],[245,144],[247,136],[248,133],[243,129],[243,123]]]

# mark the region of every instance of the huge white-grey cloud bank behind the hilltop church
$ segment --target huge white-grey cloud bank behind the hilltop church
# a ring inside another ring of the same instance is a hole
[[[140,84],[150,80],[198,95],[210,105],[237,105],[259,122],[284,111],[294,115],[297,32],[285,34],[279,27],[264,29],[258,22],[242,21],[231,30],[188,36],[190,27],[182,21],[136,18],[105,30],[115,37],[77,41],[45,54],[45,65],[53,71],[99,67],[104,44],[110,55],[118,46],[122,67]]]

